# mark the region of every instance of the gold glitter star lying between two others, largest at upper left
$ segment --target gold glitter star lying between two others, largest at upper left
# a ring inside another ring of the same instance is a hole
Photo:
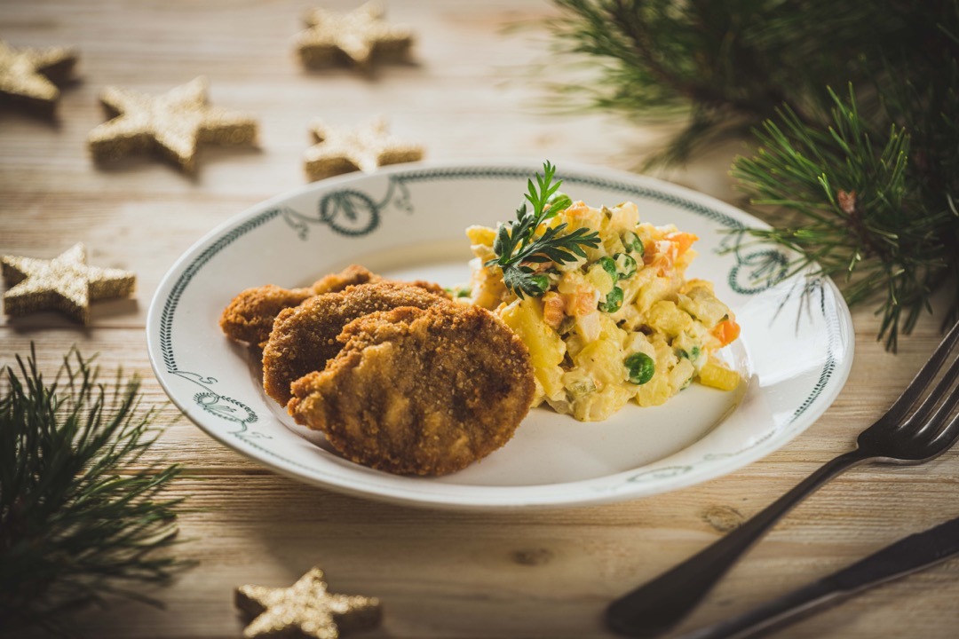
[[[193,172],[199,143],[252,145],[256,121],[210,106],[206,89],[202,77],[162,96],[107,87],[100,100],[116,117],[90,131],[87,143],[93,159],[112,161],[132,151],[154,150],[181,170]]]

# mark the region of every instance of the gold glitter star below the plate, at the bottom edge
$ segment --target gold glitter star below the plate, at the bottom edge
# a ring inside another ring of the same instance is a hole
[[[337,639],[340,632],[374,628],[383,618],[374,597],[328,592],[319,568],[289,588],[242,585],[236,589],[236,605],[252,618],[244,629],[246,639]]]

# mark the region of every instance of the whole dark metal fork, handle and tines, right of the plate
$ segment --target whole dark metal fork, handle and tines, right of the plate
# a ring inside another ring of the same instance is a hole
[[[864,464],[924,464],[959,437],[959,357],[933,385],[959,342],[959,323],[950,329],[896,403],[860,433],[857,447],[839,455],[806,480],[705,550],[622,596],[606,609],[609,628],[631,637],[658,637],[678,624],[780,517],[846,470]],[[931,389],[931,390],[930,390]]]

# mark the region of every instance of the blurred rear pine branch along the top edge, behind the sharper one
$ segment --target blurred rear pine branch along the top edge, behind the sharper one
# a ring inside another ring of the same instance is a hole
[[[901,31],[873,4],[809,0],[553,0],[556,59],[592,58],[596,81],[564,100],[648,121],[683,111],[688,125],[654,162],[684,161],[701,144],[748,130],[788,105],[805,122],[828,84],[864,82],[864,51]],[[870,105],[871,111],[877,104]]]

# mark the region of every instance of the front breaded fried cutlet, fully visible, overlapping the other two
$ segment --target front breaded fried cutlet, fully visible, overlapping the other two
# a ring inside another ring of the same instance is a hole
[[[465,468],[509,441],[533,398],[526,345],[484,308],[374,312],[338,342],[324,370],[292,383],[288,410],[365,466],[418,475]]]

